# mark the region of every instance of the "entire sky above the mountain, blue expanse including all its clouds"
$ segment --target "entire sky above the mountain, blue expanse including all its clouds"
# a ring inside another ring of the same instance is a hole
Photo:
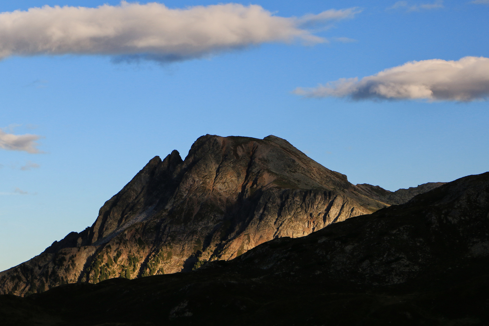
[[[207,133],[274,134],[391,191],[488,171],[488,14],[487,0],[2,0],[0,270]]]

